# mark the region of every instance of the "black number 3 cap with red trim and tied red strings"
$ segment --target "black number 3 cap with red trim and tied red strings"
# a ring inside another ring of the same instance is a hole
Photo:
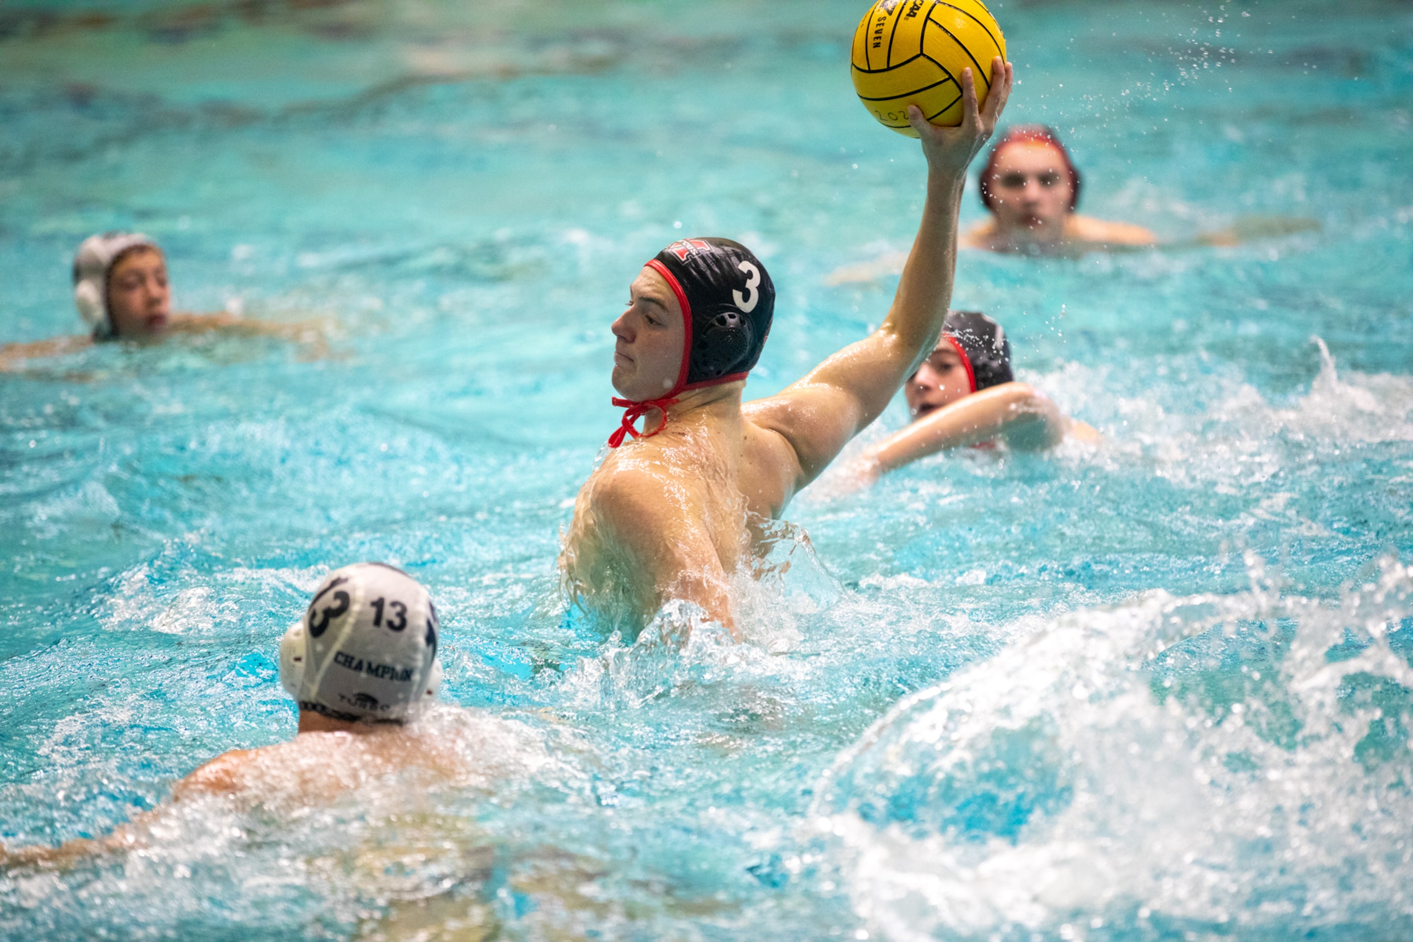
[[[682,308],[685,341],[677,383],[658,399],[613,399],[623,421],[609,436],[617,448],[626,436],[642,437],[633,427],[650,409],[663,410],[677,393],[745,379],[760,359],[776,310],[776,287],[760,259],[731,239],[680,239],[657,253],[647,266],[667,280]],[[646,433],[654,436],[663,430]]]

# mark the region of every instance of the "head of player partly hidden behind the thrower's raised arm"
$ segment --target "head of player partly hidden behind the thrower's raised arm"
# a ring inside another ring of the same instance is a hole
[[[1010,341],[981,311],[948,311],[937,347],[907,378],[903,395],[913,419],[950,406],[974,392],[1009,383]]]

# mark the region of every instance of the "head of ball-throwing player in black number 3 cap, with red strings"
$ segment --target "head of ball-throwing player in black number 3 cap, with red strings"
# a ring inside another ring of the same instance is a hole
[[[766,266],[739,242],[680,239],[658,252],[613,321],[613,405],[626,412],[609,444],[639,437],[633,421],[650,409],[666,416],[681,392],[745,379],[774,308]]]

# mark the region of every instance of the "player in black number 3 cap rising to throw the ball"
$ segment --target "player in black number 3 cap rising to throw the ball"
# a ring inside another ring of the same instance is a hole
[[[784,392],[740,400],[776,300],[755,255],[726,239],[682,239],[643,267],[613,322],[613,402],[626,410],[623,423],[579,491],[561,557],[579,604],[633,636],[666,601],[684,600],[742,636],[729,583],[763,546],[753,521],[780,516],[937,342],[966,165],[1010,82],[1010,66],[996,58],[979,110],[966,69],[958,127],[928,124],[909,109],[927,158],[927,198],[893,306],[870,337]]]

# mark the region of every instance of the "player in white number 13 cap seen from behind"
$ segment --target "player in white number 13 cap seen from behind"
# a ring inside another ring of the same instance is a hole
[[[280,644],[280,682],[298,703],[294,738],[219,755],[177,782],[171,802],[227,796],[249,806],[298,808],[401,769],[445,779],[462,775],[475,750],[414,721],[441,683],[437,632],[431,597],[401,570],[359,563],[329,573]],[[0,863],[55,861],[137,846],[164,812],[138,815],[95,840],[0,849]]]

